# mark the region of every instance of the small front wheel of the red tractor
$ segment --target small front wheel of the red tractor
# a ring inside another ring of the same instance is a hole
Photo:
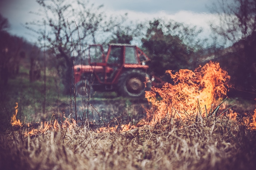
[[[84,95],[85,97],[91,97],[93,95],[93,88],[88,80],[81,80],[75,86],[77,95]]]

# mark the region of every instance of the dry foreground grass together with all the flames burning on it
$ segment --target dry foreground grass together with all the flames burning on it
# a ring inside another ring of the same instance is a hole
[[[254,169],[256,109],[241,116],[217,100],[227,73],[212,62],[168,73],[174,85],[146,93],[152,108],[136,125],[66,119],[0,134],[0,169]]]

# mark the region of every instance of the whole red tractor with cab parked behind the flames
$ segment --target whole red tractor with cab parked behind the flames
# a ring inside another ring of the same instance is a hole
[[[106,54],[102,45],[89,45],[89,65],[74,66],[76,92],[116,91],[125,97],[144,97],[151,87],[146,61],[149,58],[136,45],[109,44]]]

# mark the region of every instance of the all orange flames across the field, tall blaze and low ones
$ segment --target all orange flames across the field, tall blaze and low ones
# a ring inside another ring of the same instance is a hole
[[[224,104],[221,107],[218,104],[226,96],[228,87],[231,87],[229,84],[230,76],[220,68],[219,63],[209,62],[203,67],[196,68],[194,72],[188,69],[180,69],[176,73],[170,70],[166,71],[166,73],[170,75],[174,83],[165,83],[161,88],[152,87],[151,91],[146,91],[145,97],[152,104],[152,108],[147,110],[147,118],[140,121],[141,125],[160,121],[163,117],[183,119],[195,115],[207,116],[209,113],[213,113],[215,108],[225,110]],[[15,114],[12,116],[11,124],[21,127],[22,123],[16,119],[18,103],[14,108]],[[227,113],[229,120],[237,121],[236,112],[226,109],[225,113]],[[220,116],[223,115],[221,114]],[[66,117],[64,116],[64,118]],[[243,117],[243,123],[248,128],[256,129],[256,109],[252,119],[251,116]],[[131,125],[130,123],[121,125],[118,122],[115,127],[106,126],[97,129],[97,132],[127,131],[139,127],[140,123],[137,125]],[[38,126],[38,128],[27,129],[24,136],[36,136],[48,130],[55,131],[59,128],[72,129],[75,127],[77,127],[76,122],[74,120],[70,121],[68,118],[60,125],[58,125],[57,120],[54,122],[41,122],[41,126]]]

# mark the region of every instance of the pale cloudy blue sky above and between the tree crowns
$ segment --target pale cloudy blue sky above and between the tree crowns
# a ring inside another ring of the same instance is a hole
[[[152,20],[154,18],[173,19],[209,30],[209,21],[213,14],[209,13],[214,0],[90,0],[96,6],[104,5],[106,13],[128,13],[131,20]],[[35,35],[24,28],[26,22],[36,19],[40,6],[36,0],[0,0],[0,13],[11,24],[10,33],[35,41]]]

